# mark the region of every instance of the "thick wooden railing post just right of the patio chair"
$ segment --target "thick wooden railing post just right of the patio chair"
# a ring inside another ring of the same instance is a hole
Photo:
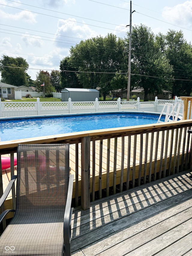
[[[81,207],[90,208],[90,136],[81,138]]]

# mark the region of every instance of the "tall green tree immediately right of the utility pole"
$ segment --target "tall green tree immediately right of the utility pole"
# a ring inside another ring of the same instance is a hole
[[[162,53],[162,46],[155,43],[154,34],[146,26],[133,27],[131,37],[132,62],[135,73],[138,74],[136,87],[143,88],[144,100],[147,101],[149,93],[161,93],[164,89],[170,90],[172,86],[172,66]]]

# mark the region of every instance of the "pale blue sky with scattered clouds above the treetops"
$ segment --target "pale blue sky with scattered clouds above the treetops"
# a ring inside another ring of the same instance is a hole
[[[192,0],[132,0],[132,26],[157,35],[182,30],[192,42]],[[33,80],[40,70],[59,70],[81,40],[129,32],[128,0],[0,0],[0,55],[22,57]]]

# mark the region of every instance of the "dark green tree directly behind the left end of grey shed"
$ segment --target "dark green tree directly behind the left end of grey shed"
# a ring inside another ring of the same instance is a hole
[[[61,60],[60,63],[60,78],[61,78],[61,87],[63,88],[82,88],[82,84],[79,82],[77,73],[75,71],[78,71],[78,68],[74,68],[71,65],[70,57],[65,57],[63,60]]]

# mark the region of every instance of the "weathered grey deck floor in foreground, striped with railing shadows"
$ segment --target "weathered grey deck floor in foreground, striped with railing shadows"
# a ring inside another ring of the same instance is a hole
[[[192,255],[192,172],[75,209],[73,256]]]

